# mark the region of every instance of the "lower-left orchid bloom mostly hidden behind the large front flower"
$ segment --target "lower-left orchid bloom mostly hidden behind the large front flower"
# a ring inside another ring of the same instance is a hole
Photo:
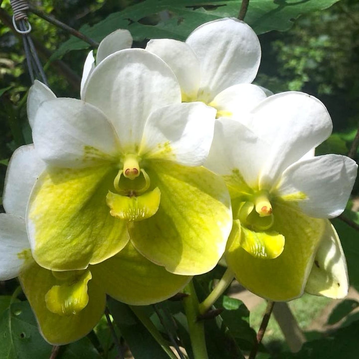
[[[46,98],[46,86],[36,93]],[[32,88],[32,91],[35,91]],[[32,258],[26,233],[27,200],[46,164],[32,145],[17,149],[6,173],[0,214],[0,280],[19,277],[43,337],[62,345],[88,334],[101,319],[106,293],[124,303],[148,305],[165,300],[190,280],[167,272],[139,254],[131,243],[114,257],[86,270],[55,272]],[[161,280],[159,280],[161,278]]]

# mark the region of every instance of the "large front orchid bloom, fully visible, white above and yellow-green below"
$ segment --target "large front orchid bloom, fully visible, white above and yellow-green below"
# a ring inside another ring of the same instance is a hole
[[[172,273],[213,268],[231,228],[223,179],[200,167],[214,120],[213,108],[181,103],[172,70],[142,49],[102,60],[83,100],[43,101],[33,140],[47,167],[26,214],[35,260],[85,269],[131,240]]]

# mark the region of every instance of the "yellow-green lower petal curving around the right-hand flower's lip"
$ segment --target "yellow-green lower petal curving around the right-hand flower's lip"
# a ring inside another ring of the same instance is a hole
[[[285,237],[281,255],[274,259],[255,258],[232,236],[225,258],[237,280],[251,292],[272,301],[288,301],[303,294],[325,221],[279,202],[273,203],[273,214],[271,230]]]

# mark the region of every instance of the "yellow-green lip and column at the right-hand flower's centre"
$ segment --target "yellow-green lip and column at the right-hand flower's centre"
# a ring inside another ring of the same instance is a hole
[[[273,230],[274,213],[267,190],[232,199],[233,226],[231,237],[254,257],[276,258],[284,248],[284,236]]]

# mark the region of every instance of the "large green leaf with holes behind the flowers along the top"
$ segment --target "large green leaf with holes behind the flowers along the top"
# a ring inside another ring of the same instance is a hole
[[[300,14],[325,9],[338,0],[251,0],[246,22],[257,34],[270,30],[288,30],[293,18]],[[241,0],[145,0],[114,12],[104,20],[80,32],[101,41],[118,28],[129,29],[136,41],[145,38],[174,38],[185,40],[200,24],[222,17],[237,17]],[[51,60],[66,52],[90,47],[77,37],[71,36],[51,56]]]

